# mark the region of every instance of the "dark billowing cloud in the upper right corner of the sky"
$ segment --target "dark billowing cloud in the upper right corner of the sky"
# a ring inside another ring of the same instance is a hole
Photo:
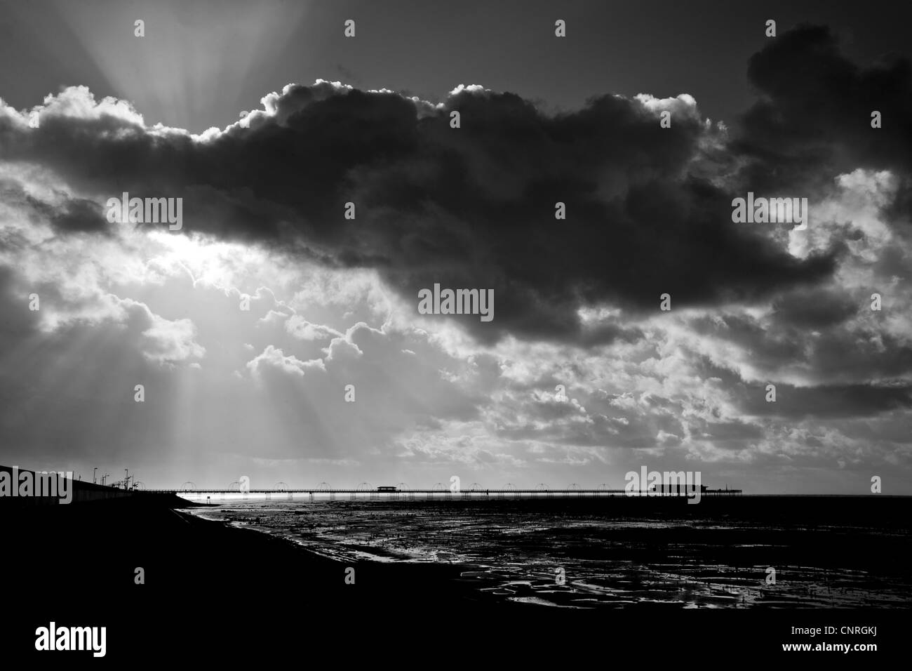
[[[755,160],[745,182],[818,188],[858,167],[912,167],[912,66],[887,56],[859,68],[824,26],[799,26],[751,57],[760,96],[742,119],[738,149]],[[871,128],[871,112],[882,128]]]

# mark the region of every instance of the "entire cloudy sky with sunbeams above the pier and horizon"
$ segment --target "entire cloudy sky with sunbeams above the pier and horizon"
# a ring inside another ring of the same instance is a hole
[[[905,16],[415,5],[0,0],[0,464],[912,494]]]

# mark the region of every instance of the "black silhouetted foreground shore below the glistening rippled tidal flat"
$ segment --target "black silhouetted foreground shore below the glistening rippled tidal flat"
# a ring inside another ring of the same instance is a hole
[[[910,502],[887,504],[878,504],[877,512],[868,503],[859,508],[838,499],[806,499],[803,523],[808,532],[820,533],[827,515],[841,506],[845,510],[839,514],[854,516],[858,524],[886,525],[897,533],[907,529]],[[753,514],[756,508],[773,519],[802,517],[794,499],[729,505],[736,515]],[[892,642],[896,649],[904,636],[903,609],[586,612],[506,603],[479,592],[456,566],[327,560],[290,541],[175,509],[186,507],[179,498],[144,495],[0,508],[3,651],[36,654],[36,627],[51,621],[106,626],[108,662],[280,661],[312,658],[324,649],[342,660],[395,656],[397,645],[407,642],[412,655],[437,650],[453,663],[465,655],[482,655],[482,648],[504,660],[559,660],[587,651],[606,661],[640,658],[646,663],[657,646],[684,646],[674,649],[711,658],[783,655],[782,643],[822,640],[820,635],[814,640],[792,634],[795,626],[877,625],[873,639],[829,639],[873,640],[881,647]],[[702,504],[689,508],[695,515],[695,508],[701,513],[709,509]],[[829,550],[854,561],[874,552],[872,566],[907,563],[907,540],[887,533],[877,547],[865,548],[853,545],[852,538],[835,534]],[[345,580],[349,567],[355,570],[354,584]],[[144,584],[136,583],[137,568],[144,571]],[[61,661],[67,663],[71,655],[98,662],[89,653],[50,654],[64,655]]]

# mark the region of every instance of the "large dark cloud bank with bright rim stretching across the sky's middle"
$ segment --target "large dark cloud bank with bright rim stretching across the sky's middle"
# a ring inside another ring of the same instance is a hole
[[[609,95],[547,114],[510,93],[461,90],[434,108],[324,82],[269,104],[274,116],[205,142],[129,118],[51,116],[31,132],[0,120],[0,147],[105,197],[182,195],[185,231],[377,268],[416,305],[434,283],[492,288],[492,322],[461,318],[484,341],[635,339],[584,328],[577,310],[652,311],[665,292],[676,307],[761,299],[835,266],[835,250],[796,259],[731,223],[731,194],[705,174],[720,131],[684,102],[670,129]]]

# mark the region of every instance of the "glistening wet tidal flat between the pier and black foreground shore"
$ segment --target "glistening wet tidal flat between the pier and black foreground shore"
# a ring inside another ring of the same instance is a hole
[[[344,562],[440,563],[564,608],[907,607],[910,498],[234,500],[188,511]]]

